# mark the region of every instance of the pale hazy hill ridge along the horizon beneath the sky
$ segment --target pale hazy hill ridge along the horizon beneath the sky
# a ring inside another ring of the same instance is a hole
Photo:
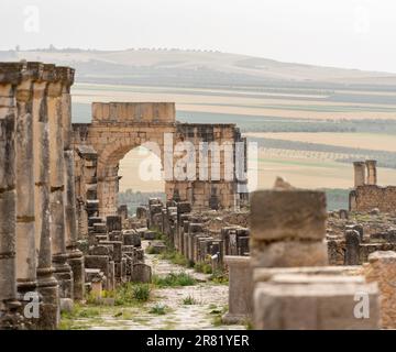
[[[0,51],[0,61],[40,61],[77,69],[77,81],[183,87],[396,86],[396,74],[322,67],[218,51],[48,48]]]

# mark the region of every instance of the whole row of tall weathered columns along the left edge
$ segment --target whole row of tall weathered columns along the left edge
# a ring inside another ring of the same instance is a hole
[[[73,81],[68,67],[0,64],[0,328],[54,329],[61,299],[84,296]],[[26,318],[23,308],[32,299],[38,317]]]

